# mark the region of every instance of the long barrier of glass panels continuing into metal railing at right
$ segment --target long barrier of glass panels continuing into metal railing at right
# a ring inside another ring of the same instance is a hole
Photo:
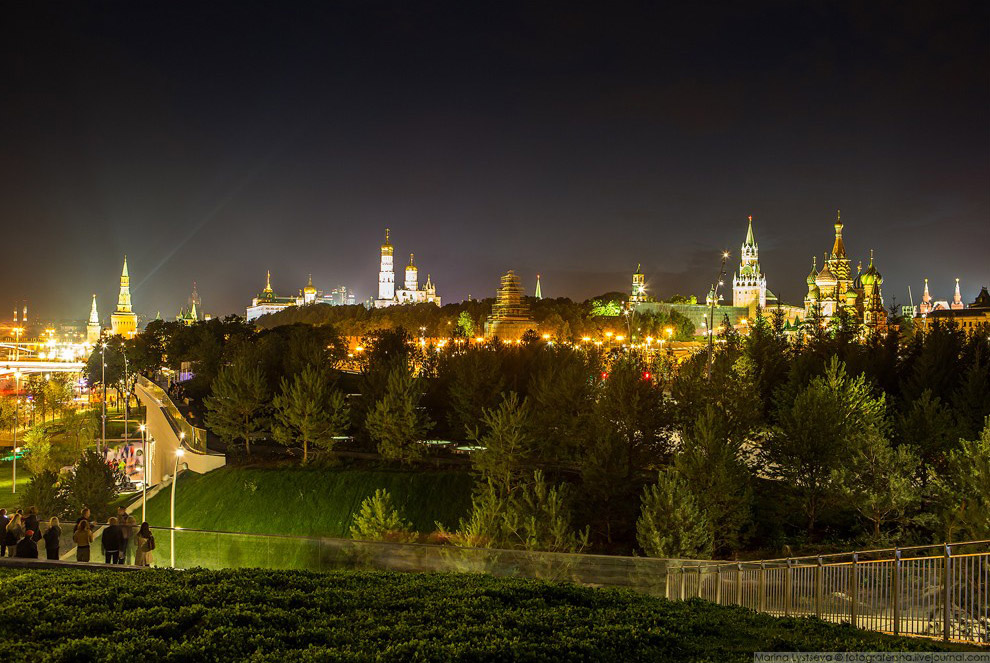
[[[71,523],[62,552],[72,547]],[[156,566],[489,573],[701,598],[775,616],[990,644],[990,541],[708,562],[153,527]],[[42,556],[44,551],[42,550]],[[93,561],[100,561],[99,538]]]

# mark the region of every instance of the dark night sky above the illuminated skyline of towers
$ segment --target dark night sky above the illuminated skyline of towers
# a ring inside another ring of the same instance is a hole
[[[661,4],[9,4],[4,294],[108,315],[127,253],[151,316],[366,298],[390,226],[446,301],[701,295],[752,214],[799,302],[836,208],[888,304],[990,283],[990,4]]]

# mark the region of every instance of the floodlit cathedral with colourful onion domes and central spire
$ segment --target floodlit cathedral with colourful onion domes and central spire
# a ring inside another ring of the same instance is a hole
[[[832,251],[825,253],[820,272],[817,267],[813,261],[811,273],[808,274],[808,294],[804,298],[805,320],[817,314],[828,322],[839,311],[846,311],[870,329],[886,326],[887,313],[881,291],[883,277],[873,265],[873,251],[870,251],[869,267],[864,272],[860,265],[854,277],[842,240],[842,217],[838,213],[835,216]]]

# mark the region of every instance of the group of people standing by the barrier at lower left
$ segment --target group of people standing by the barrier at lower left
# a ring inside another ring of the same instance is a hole
[[[91,523],[90,510],[84,508],[72,531],[77,562],[90,561],[90,549],[96,538]],[[48,530],[42,535],[35,507],[30,507],[27,515],[18,509],[12,516],[7,515],[6,509],[0,509],[0,528],[0,557],[7,556],[9,551],[11,557],[38,559],[38,542],[44,540],[46,557],[60,559],[62,528],[58,518],[48,521]],[[117,516],[110,518],[103,528],[100,547],[107,564],[151,566],[155,537],[148,523],[141,523],[138,527],[137,519],[120,507]]]

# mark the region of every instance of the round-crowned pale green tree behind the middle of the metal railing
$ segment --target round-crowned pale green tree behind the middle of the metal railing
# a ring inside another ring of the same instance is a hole
[[[870,523],[873,542],[883,544],[887,525],[903,522],[921,495],[915,484],[918,458],[906,446],[894,448],[881,434],[869,435],[836,470],[847,503]]]

